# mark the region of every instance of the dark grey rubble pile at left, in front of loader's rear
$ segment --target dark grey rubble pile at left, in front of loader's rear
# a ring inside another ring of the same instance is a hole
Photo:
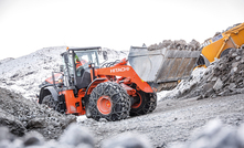
[[[45,105],[0,88],[0,126],[7,126],[15,136],[35,130],[46,139],[57,139],[73,121],[76,121],[73,115],[62,115]]]

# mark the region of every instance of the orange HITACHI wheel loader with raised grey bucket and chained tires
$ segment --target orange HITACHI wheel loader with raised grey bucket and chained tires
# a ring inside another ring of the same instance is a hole
[[[190,76],[200,51],[131,46],[128,60],[104,64],[99,54],[107,60],[100,46],[67,49],[61,72],[41,85],[39,103],[95,120],[145,115],[156,109],[156,92]]]

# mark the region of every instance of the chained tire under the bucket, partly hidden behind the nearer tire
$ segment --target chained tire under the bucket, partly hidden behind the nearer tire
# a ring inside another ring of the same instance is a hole
[[[139,116],[151,113],[157,107],[157,95],[156,93],[145,93],[137,91],[139,102],[131,106],[129,116]]]

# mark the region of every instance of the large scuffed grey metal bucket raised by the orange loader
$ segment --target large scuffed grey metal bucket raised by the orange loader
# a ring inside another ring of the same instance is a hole
[[[149,51],[147,47],[131,46],[129,64],[156,92],[172,89],[179,80],[191,75],[201,51],[163,47]]]

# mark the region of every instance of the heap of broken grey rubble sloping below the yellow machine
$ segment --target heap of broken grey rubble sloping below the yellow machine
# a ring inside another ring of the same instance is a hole
[[[225,56],[216,59],[201,80],[178,97],[206,98],[234,94],[244,94],[244,47],[232,49]]]

